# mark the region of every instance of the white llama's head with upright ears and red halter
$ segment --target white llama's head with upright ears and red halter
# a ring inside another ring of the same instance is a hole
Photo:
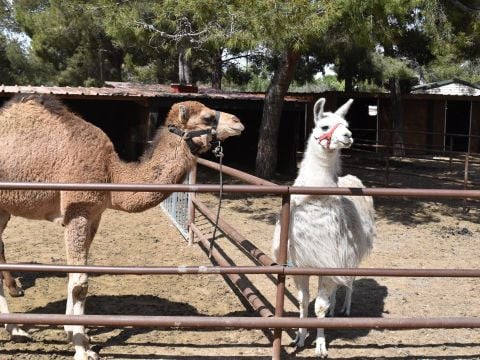
[[[325,99],[321,98],[313,107],[315,128],[312,138],[325,150],[333,151],[349,148],[353,144],[352,133],[348,130],[348,122],[345,115],[352,104],[353,99],[337,109],[334,113],[324,112]]]

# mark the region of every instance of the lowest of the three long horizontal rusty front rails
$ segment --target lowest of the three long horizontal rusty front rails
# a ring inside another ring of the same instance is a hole
[[[0,314],[0,323],[32,325],[86,325],[158,328],[233,329],[457,329],[480,328],[480,318],[291,318],[137,315]]]

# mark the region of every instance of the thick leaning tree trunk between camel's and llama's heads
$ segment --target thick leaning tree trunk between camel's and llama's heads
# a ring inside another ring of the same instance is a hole
[[[272,177],[277,167],[277,142],[283,98],[292,82],[299,59],[300,55],[292,50],[286,50],[282,54],[265,94],[255,164],[255,174],[261,178]]]

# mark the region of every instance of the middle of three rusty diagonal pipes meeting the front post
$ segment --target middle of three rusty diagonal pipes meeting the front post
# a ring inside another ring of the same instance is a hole
[[[200,200],[193,199],[193,204],[196,208],[207,217],[208,220],[211,222],[215,222],[216,216],[213,212]],[[265,254],[262,250],[257,248],[254,244],[252,244],[248,239],[246,239],[242,234],[240,234],[237,230],[235,230],[231,225],[229,225],[225,220],[221,217],[218,219],[218,228],[231,240],[240,246],[240,248],[246,251],[251,257],[257,260],[260,264],[264,266],[273,265],[275,262],[273,259]]]

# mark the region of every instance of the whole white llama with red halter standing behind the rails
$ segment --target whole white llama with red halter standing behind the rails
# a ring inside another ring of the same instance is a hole
[[[344,119],[352,99],[335,113],[324,113],[325,99],[314,106],[315,128],[308,140],[294,186],[363,187],[355,176],[338,177],[341,167],[340,149],[353,143],[348,123]],[[375,236],[373,200],[358,196],[292,196],[289,230],[288,262],[296,267],[353,268],[372,248]],[[280,243],[280,226],[277,223],[273,236],[273,253],[277,259]],[[300,318],[307,316],[309,304],[309,276],[294,276],[298,289]],[[338,285],[347,287],[343,306],[350,313],[353,277],[323,276],[318,280],[315,314],[325,317],[333,312]],[[334,305],[334,304],[333,304]],[[307,330],[299,329],[295,338],[297,347],[304,346]],[[325,334],[317,330],[315,353],[327,356]]]

